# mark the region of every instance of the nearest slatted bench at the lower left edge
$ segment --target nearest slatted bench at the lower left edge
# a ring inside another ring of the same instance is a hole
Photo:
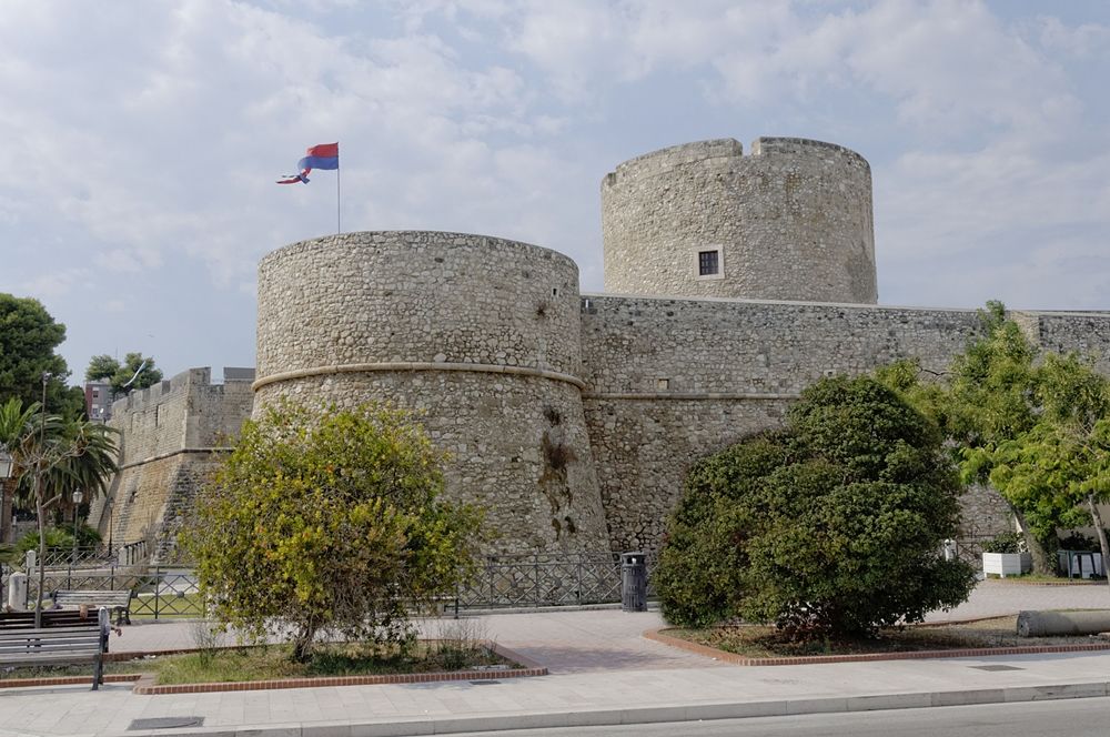
[[[87,624],[0,630],[0,666],[92,663],[92,690],[97,690],[104,683],[108,616],[108,609],[101,608]]]

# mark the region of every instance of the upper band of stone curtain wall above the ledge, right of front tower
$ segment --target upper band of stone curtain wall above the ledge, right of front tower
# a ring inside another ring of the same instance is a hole
[[[670,393],[794,396],[829,372],[908,356],[947,371],[978,329],[968,310],[586,294],[583,378],[589,394],[667,381]]]

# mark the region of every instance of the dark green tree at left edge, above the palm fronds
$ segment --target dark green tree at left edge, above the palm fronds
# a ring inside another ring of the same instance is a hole
[[[63,340],[65,326],[54,322],[41,302],[0,293],[0,402],[13,396],[24,405],[41,401],[46,373],[50,412],[79,416],[83,394],[65,386],[69,368],[54,353]]]

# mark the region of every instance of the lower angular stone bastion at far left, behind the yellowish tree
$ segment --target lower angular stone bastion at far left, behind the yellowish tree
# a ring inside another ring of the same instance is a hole
[[[172,559],[193,498],[250,416],[253,378],[252,368],[224,368],[212,384],[210,368],[190,368],[112,405],[121,473],[89,511],[104,541],[150,539],[155,562]]]

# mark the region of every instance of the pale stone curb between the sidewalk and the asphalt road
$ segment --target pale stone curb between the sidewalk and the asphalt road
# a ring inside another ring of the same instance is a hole
[[[827,698],[775,699],[720,704],[646,706],[576,711],[485,714],[458,717],[414,717],[392,721],[324,721],[310,724],[241,725],[211,728],[127,731],[104,737],[407,737],[468,731],[607,727],[615,725],[744,719],[800,714],[881,711],[973,704],[1013,704],[1110,696],[1110,682],[1012,686],[953,691],[874,694]]]

